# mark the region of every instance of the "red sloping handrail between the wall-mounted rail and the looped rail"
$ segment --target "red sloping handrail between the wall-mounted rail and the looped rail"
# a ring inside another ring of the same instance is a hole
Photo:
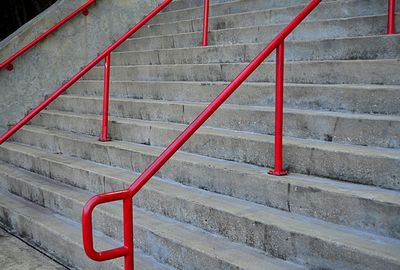
[[[69,81],[67,81],[63,86],[58,88],[53,94],[51,94],[45,101],[43,101],[39,106],[33,109],[28,115],[22,118],[17,124],[10,128],[6,133],[0,137],[0,144],[5,142],[9,137],[11,137],[15,132],[27,124],[33,117],[35,117],[39,112],[46,108],[51,102],[53,102],[57,97],[64,93],[68,88],[71,87],[76,81],[82,78],[89,70],[95,67],[101,60],[103,60],[107,55],[109,55],[113,50],[118,48],[125,40],[132,36],[136,31],[138,31],[143,25],[150,21],[157,13],[163,10],[172,0],[165,0],[158,7],[156,7],[152,12],[150,12],[146,17],[144,17],[139,23],[132,27],[127,33],[125,33],[120,39],[113,43],[110,47],[104,50],[99,56],[97,56],[92,62],[86,65],[81,71],[75,74]]]

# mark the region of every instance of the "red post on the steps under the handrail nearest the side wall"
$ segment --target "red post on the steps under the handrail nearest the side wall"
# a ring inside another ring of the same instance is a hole
[[[103,94],[103,123],[101,128],[100,141],[111,141],[108,137],[108,107],[110,98],[110,65],[111,55],[107,54],[104,58],[104,94]]]

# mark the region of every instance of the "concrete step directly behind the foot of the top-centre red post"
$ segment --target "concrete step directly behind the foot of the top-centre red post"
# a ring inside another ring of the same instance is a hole
[[[400,24],[396,16],[396,24]],[[287,24],[255,25],[209,32],[209,45],[267,43]],[[356,36],[383,35],[387,31],[387,14],[306,21],[291,33],[290,40],[319,40]],[[149,49],[169,49],[200,46],[202,31],[131,38],[125,41],[118,51],[140,51]]]

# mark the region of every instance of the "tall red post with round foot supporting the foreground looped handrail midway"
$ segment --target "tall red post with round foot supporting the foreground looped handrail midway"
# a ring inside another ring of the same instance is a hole
[[[275,97],[275,162],[274,169],[268,173],[276,176],[287,175],[288,172],[282,169],[282,135],[283,135],[283,83],[285,47],[284,40],[276,49],[276,97]]]

